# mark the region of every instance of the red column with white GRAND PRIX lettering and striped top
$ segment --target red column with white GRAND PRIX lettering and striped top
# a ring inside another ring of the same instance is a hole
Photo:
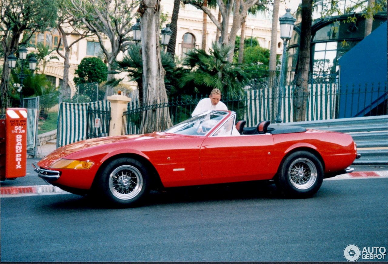
[[[5,178],[26,176],[27,168],[27,109],[8,108],[5,120]]]

